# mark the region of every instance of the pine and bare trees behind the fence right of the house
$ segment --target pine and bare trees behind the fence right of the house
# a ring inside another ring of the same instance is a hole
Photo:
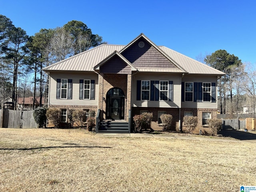
[[[256,102],[256,70],[249,62],[242,61],[226,50],[217,50],[207,54],[199,61],[226,74],[218,77],[218,110],[220,114],[248,113],[255,114]]]

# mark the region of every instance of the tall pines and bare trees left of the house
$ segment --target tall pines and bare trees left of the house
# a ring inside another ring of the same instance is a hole
[[[12,98],[17,109],[18,98],[33,96],[47,102],[48,76],[42,68],[103,44],[102,37],[81,21],[72,20],[62,27],[41,29],[34,36],[0,15],[0,106]],[[28,76],[32,80],[29,81]],[[30,87],[33,87],[32,90]],[[23,103],[24,106],[24,103]]]

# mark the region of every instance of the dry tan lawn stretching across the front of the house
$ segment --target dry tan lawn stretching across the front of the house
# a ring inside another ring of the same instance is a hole
[[[0,191],[233,192],[256,184],[255,157],[255,143],[0,128]]]

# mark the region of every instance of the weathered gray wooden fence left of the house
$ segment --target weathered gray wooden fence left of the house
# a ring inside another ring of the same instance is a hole
[[[3,128],[38,128],[33,117],[34,110],[18,111],[1,109],[1,127]]]

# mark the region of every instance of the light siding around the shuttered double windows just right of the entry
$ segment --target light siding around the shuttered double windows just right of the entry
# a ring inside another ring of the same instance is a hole
[[[173,81],[173,101],[138,101],[137,98],[137,80],[152,80],[152,81]],[[135,74],[132,76],[132,106],[134,107],[181,107],[181,82],[179,74]]]

